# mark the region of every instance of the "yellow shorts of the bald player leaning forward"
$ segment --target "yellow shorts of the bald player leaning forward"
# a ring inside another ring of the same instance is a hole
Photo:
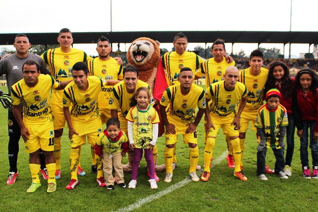
[[[211,128],[208,133],[208,137],[216,137],[220,127],[222,128],[224,135],[239,136],[239,131],[237,126],[231,125],[235,118],[234,114],[230,114],[227,117],[220,118],[210,113],[210,118],[215,127],[215,130]]]

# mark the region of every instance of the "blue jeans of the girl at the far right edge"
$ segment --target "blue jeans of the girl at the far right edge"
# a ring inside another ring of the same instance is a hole
[[[318,166],[318,142],[314,140],[314,129],[316,122],[303,121],[303,137],[300,138],[300,159],[302,166],[309,166],[308,160],[308,138],[310,138],[309,147],[312,150],[313,166]],[[308,135],[308,129],[310,130],[310,137]]]

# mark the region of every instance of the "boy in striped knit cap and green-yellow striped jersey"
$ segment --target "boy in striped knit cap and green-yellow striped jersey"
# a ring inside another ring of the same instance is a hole
[[[255,127],[257,129],[257,175],[260,180],[267,180],[265,175],[265,156],[267,147],[273,149],[276,157],[275,174],[282,179],[288,179],[284,173],[284,137],[287,132],[287,110],[279,104],[281,94],[278,89],[270,89],[266,93],[266,103],[258,109]]]

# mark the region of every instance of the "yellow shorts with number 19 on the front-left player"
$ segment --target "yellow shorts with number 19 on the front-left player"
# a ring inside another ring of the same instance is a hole
[[[32,153],[41,148],[44,151],[54,150],[54,126],[53,122],[46,124],[25,124],[29,130],[28,141],[24,141],[25,151]]]

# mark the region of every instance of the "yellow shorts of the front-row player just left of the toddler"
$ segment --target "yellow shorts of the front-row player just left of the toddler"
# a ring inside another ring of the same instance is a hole
[[[79,145],[86,144],[87,142],[94,145],[98,139],[99,134],[102,132],[102,124],[100,118],[95,119],[89,123],[76,123],[72,122],[73,128],[79,135],[73,135],[71,140],[71,147],[77,147]]]

